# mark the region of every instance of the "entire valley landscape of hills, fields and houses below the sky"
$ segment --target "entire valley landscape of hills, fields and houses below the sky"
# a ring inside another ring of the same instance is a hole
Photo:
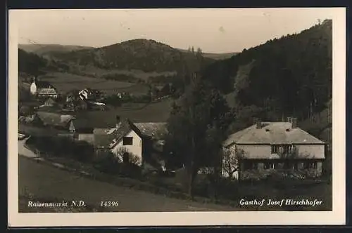
[[[20,45],[20,209],[331,210],[332,22],[291,33],[229,53],[133,36]],[[322,204],[241,205],[254,199]]]

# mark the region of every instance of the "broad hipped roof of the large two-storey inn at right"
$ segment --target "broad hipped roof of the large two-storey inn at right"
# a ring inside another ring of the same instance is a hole
[[[324,144],[318,138],[301,128],[292,128],[289,122],[262,122],[262,128],[256,125],[233,133],[225,140],[225,147],[232,144]]]

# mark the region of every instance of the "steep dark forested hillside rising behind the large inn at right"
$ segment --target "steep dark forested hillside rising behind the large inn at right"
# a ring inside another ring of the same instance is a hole
[[[332,20],[215,62],[203,76],[249,115],[306,119],[332,98]]]

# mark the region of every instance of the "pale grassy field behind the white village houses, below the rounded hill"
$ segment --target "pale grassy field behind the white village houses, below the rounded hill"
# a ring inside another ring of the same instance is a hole
[[[49,81],[59,92],[65,93],[73,89],[94,88],[103,91],[106,94],[116,93],[123,88],[131,88],[133,84],[121,81],[111,81],[106,79],[97,79],[89,76],[81,76],[68,73],[50,73],[39,76],[42,81]],[[136,88],[138,90],[138,88]],[[133,90],[133,88],[132,88]]]

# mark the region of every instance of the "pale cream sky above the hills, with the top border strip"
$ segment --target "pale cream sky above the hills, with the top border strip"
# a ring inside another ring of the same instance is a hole
[[[153,39],[174,48],[240,52],[333,19],[333,8],[12,10],[19,44],[108,46]]]

